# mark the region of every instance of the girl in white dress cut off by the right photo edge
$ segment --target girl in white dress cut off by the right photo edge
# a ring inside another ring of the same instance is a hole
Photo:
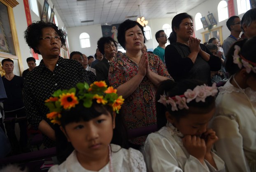
[[[235,42],[226,59],[231,77],[216,98],[215,148],[229,172],[255,172],[256,37]]]

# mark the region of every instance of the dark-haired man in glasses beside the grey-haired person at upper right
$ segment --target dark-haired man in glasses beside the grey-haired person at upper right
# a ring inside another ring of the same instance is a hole
[[[231,16],[226,25],[228,30],[230,30],[230,35],[226,38],[226,40],[222,44],[222,48],[224,51],[224,56],[226,57],[228,50],[232,44],[234,44],[238,39],[240,39],[239,35],[241,33],[241,19],[239,16]]]

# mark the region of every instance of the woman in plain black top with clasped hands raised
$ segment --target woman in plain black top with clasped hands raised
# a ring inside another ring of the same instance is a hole
[[[165,63],[175,81],[198,79],[211,83],[211,71],[221,68],[221,60],[194,38],[193,19],[187,13],[177,14],[172,19],[170,45],[165,48]]]

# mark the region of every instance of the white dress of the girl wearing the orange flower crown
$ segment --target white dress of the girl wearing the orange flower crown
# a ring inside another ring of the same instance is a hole
[[[146,172],[146,165],[140,151],[123,149],[119,145],[111,144],[113,172]],[[109,163],[98,172],[110,172]],[[77,160],[76,151],[61,164],[54,165],[49,172],[94,172],[86,170]]]

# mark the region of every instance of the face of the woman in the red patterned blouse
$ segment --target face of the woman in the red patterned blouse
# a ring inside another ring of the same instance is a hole
[[[126,30],[125,40],[126,51],[141,51],[144,46],[144,36],[142,30],[137,25],[133,28]]]

